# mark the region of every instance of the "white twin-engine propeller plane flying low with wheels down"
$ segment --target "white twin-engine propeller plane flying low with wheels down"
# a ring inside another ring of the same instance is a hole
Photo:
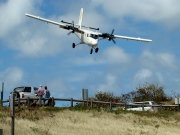
[[[98,41],[102,40],[102,39],[107,39],[109,41],[113,41],[113,43],[116,43],[114,40],[115,38],[144,41],[144,42],[151,42],[152,41],[150,39],[142,39],[142,38],[114,35],[114,29],[112,30],[111,33],[100,33],[100,32],[98,32],[99,28],[83,26],[82,25],[83,8],[81,8],[81,10],[80,10],[78,24],[74,24],[74,21],[65,22],[62,20],[61,23],[59,23],[59,22],[55,22],[55,21],[48,20],[45,18],[41,18],[39,16],[34,16],[34,15],[30,15],[30,14],[25,14],[25,15],[28,17],[37,19],[37,20],[41,20],[41,21],[45,21],[47,23],[55,24],[55,25],[59,26],[60,28],[69,30],[68,35],[71,33],[74,33],[80,39],[80,42],[78,44],[75,44],[75,43],[72,44],[72,48],[75,48],[77,45],[80,45],[80,44],[86,44],[86,45],[91,47],[90,54],[93,53],[93,49],[95,50],[96,53],[98,52],[98,50],[99,50],[99,48],[97,47]]]

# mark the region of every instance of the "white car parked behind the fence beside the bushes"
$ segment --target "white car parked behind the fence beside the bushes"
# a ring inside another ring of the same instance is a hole
[[[132,105],[131,105],[132,104]],[[154,107],[153,105],[156,105],[154,101],[143,101],[143,102],[133,102],[130,103],[127,108],[124,110],[132,110],[132,111],[143,111],[144,105],[144,111],[157,111],[157,107]]]

